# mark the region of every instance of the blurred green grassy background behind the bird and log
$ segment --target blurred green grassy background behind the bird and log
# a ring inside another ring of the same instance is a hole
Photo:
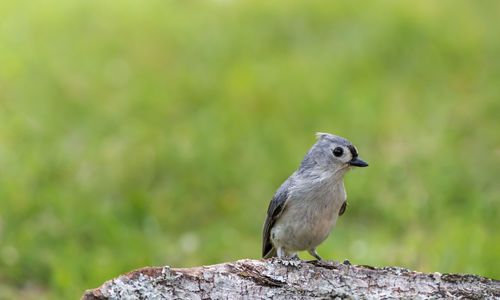
[[[370,163],[320,255],[498,279],[498,20],[498,1],[1,1],[0,298],[259,258],[316,131]]]

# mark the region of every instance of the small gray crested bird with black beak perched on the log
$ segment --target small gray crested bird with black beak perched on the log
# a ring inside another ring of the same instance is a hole
[[[322,260],[317,247],[347,207],[344,175],[353,167],[368,166],[345,138],[322,132],[316,138],[269,203],[262,229],[263,258],[298,258],[298,251],[307,250]]]

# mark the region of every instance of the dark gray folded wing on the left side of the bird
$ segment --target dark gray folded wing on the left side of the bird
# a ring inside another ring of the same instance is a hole
[[[286,202],[290,198],[291,180],[287,179],[274,194],[269,207],[267,208],[267,217],[262,229],[262,257],[266,257],[273,250],[273,245],[269,235],[276,220],[281,216],[285,209]]]

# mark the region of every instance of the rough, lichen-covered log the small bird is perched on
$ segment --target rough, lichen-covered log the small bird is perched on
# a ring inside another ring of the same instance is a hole
[[[244,259],[189,269],[146,267],[82,299],[500,299],[500,281],[334,261]]]

